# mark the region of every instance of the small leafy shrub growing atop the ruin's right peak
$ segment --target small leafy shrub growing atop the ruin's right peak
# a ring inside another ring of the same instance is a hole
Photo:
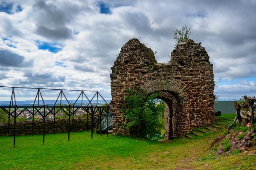
[[[189,36],[191,34],[191,31],[187,29],[187,26],[183,26],[181,30],[177,29],[176,31],[174,31],[174,37],[173,39],[175,39],[175,43],[176,45],[180,42],[186,42],[187,40],[189,40]],[[189,32],[190,31],[190,32]]]

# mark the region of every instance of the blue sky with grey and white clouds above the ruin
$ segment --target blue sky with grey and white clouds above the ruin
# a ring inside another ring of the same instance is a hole
[[[173,32],[186,24],[214,65],[215,94],[253,96],[255,9],[256,0],[0,0],[0,86],[96,90],[111,99],[122,45],[138,38],[168,62]]]

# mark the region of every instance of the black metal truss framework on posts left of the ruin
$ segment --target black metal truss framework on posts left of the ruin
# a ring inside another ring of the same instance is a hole
[[[64,89],[50,89],[50,88],[21,88],[21,87],[6,87],[6,86],[0,86],[0,90],[8,90],[11,92],[11,99],[9,102],[9,105],[0,105],[0,109],[2,109],[7,115],[8,115],[8,133],[7,136],[9,136],[9,126],[10,126],[10,119],[14,119],[14,140],[13,140],[13,145],[15,146],[15,137],[16,137],[16,121],[18,116],[20,116],[21,113],[24,111],[29,112],[32,115],[32,135],[33,135],[33,130],[34,130],[34,116],[35,114],[40,114],[43,117],[44,120],[44,127],[43,127],[43,143],[44,143],[44,136],[45,136],[45,119],[49,115],[49,113],[53,114],[53,119],[54,119],[54,125],[53,125],[53,133],[55,133],[55,115],[59,112],[63,112],[68,116],[68,140],[70,140],[70,130],[71,127],[73,126],[73,123],[71,124],[70,121],[71,119],[74,120],[74,114],[79,111],[79,109],[84,110],[87,113],[87,130],[89,130],[88,127],[88,114],[91,116],[91,138],[93,138],[93,117],[95,113],[99,113],[99,119],[101,122],[102,119],[102,113],[106,112],[107,115],[109,116],[109,109],[110,105],[108,102],[105,101],[105,99],[102,97],[101,94],[99,94],[98,91],[80,91],[80,90],[64,90]],[[34,102],[32,105],[17,105],[16,101],[16,96],[15,96],[15,89],[37,89],[37,94],[34,97]],[[49,90],[49,91],[58,91],[58,97],[55,100],[54,105],[46,105],[45,100],[43,98],[43,95],[41,93],[41,90]],[[79,91],[79,96],[77,97],[76,101],[74,104],[70,103],[70,101],[67,99],[66,95],[64,92],[67,91]],[[90,92],[91,94],[94,94],[93,97],[88,97],[86,93]],[[1,92],[0,92],[1,93]],[[101,98],[104,102],[105,105],[100,105],[99,104],[99,98]],[[81,105],[80,103],[78,104],[78,101],[81,99]],[[92,102],[96,100],[96,103]],[[57,103],[57,102],[60,103]],[[63,104],[63,103],[67,104]],[[86,103],[86,104],[84,104]],[[21,109],[20,112],[17,113],[17,110]],[[43,111],[42,111],[43,110]],[[73,122],[73,121],[72,121]],[[108,119],[107,119],[107,127],[108,127]],[[100,123],[100,134],[101,132],[102,125]],[[108,136],[108,130],[107,130],[107,136]]]

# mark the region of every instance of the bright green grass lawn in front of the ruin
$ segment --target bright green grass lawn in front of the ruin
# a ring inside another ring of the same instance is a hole
[[[228,119],[234,118],[233,115]],[[149,141],[128,136],[97,135],[90,132],[47,134],[43,136],[0,137],[1,170],[77,170],[77,169],[149,169],[149,170],[236,170],[254,169],[255,156],[240,153],[216,159],[209,149],[216,132],[195,139]]]

